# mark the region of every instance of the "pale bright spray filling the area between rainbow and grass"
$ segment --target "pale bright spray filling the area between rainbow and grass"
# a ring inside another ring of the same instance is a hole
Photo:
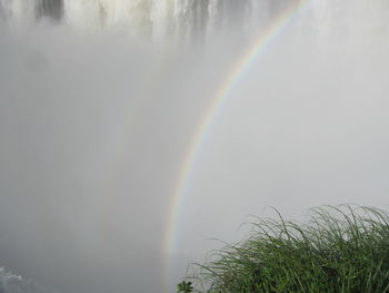
[[[238,223],[266,206],[287,217],[321,204],[388,208],[386,3],[363,4],[312,3],[236,87],[191,172],[177,244],[187,263],[220,247],[208,238],[239,240]]]

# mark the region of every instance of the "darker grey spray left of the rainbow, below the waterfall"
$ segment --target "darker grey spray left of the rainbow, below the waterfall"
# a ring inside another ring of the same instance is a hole
[[[171,187],[219,69],[120,33],[16,33],[0,36],[1,264],[60,292],[160,291]]]

